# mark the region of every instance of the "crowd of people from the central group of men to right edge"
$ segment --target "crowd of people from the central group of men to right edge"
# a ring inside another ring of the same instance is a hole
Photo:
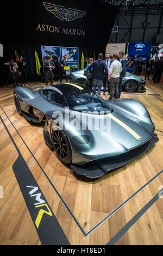
[[[86,59],[85,59],[86,60]],[[85,64],[86,65],[86,64]],[[112,99],[115,95],[115,99],[120,99],[122,92],[122,80],[126,76],[126,71],[130,69],[131,74],[141,75],[142,69],[145,69],[145,80],[149,80],[149,76],[153,75],[153,83],[159,83],[163,72],[163,58],[155,57],[152,60],[151,57],[147,61],[143,60],[141,56],[135,55],[135,59],[129,58],[128,54],[124,55],[123,51],[118,54],[105,54],[103,60],[103,54],[98,54],[98,60],[92,58],[87,59],[87,81],[89,87],[94,90],[98,87],[98,94],[101,94],[101,88],[103,84],[103,95],[106,93],[106,83],[108,85],[109,99]],[[92,74],[90,76],[90,73]]]

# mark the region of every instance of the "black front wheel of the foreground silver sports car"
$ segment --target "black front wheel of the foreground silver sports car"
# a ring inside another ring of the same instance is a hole
[[[59,128],[53,130],[52,142],[59,160],[63,163],[70,164],[72,161],[72,151],[66,133]]]

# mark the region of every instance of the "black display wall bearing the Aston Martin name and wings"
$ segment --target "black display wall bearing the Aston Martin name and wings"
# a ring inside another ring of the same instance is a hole
[[[88,57],[93,57],[93,52],[96,56],[104,53],[118,13],[117,7],[96,0],[3,2],[1,10],[5,17],[1,21],[4,57],[0,58],[0,84],[8,75],[4,62],[15,57],[15,50],[25,55],[32,51],[33,58],[36,50],[41,61],[41,45],[79,47],[79,67],[82,52]]]

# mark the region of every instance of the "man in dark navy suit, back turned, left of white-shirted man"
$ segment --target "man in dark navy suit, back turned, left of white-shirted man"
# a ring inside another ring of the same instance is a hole
[[[93,68],[92,72],[92,79],[93,79],[93,90],[96,92],[96,87],[98,84],[98,94],[101,95],[101,87],[104,80],[104,72],[108,74],[108,69],[106,68],[106,65],[104,62],[102,62],[103,54],[98,54],[98,60],[95,60],[88,68],[88,70],[91,70]]]

